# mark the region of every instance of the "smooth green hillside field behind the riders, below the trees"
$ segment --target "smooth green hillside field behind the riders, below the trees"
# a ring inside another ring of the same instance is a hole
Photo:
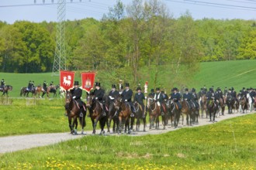
[[[240,90],[242,87],[256,87],[256,81],[254,80],[256,75],[256,59],[251,60],[236,60],[236,61],[221,61],[221,62],[209,62],[200,63],[200,70],[193,76],[192,81],[187,84],[187,87],[195,87],[197,90],[203,85],[206,87],[234,87],[235,90]],[[111,84],[109,79],[104,79],[106,73],[99,73],[96,75],[96,79],[100,79],[102,86],[105,86],[106,90],[110,90]],[[154,76],[154,73],[149,73],[150,76]],[[158,80],[162,84],[169,84],[166,82],[166,76],[171,75],[168,67],[161,68],[161,74],[159,74]],[[149,81],[149,89],[152,88],[152,82],[150,82],[150,76],[141,77],[140,82]],[[190,76],[190,75],[188,75]],[[13,91],[9,93],[10,97],[19,97],[21,87],[27,87],[29,80],[35,81],[36,85],[42,85],[46,80],[49,84],[54,81],[54,84],[59,83],[59,76],[52,76],[52,73],[0,73],[0,79],[5,79],[6,84],[13,86]],[[151,77],[152,78],[152,77]],[[79,72],[76,72],[75,80],[81,82],[81,76]],[[117,83],[117,82],[116,82]],[[105,85],[109,84],[109,85]],[[134,87],[136,88],[136,87]],[[172,87],[166,87],[169,90]],[[52,94],[51,94],[52,97]]]

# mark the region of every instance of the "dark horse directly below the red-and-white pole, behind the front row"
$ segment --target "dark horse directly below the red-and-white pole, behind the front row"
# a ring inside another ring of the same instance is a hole
[[[143,124],[144,124],[143,131],[146,131],[146,113],[145,113],[145,108],[143,110],[142,106],[138,102],[136,102],[136,101],[134,102],[134,107],[135,107],[135,118],[137,119],[137,121],[136,121],[136,131],[140,130],[140,120],[141,119],[142,119]],[[145,114],[144,117],[143,117],[143,114]]]

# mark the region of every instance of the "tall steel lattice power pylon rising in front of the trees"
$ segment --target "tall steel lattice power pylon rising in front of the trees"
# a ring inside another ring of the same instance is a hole
[[[66,0],[57,1],[57,35],[54,54],[53,75],[58,75],[60,70],[66,70],[65,49],[65,18]]]

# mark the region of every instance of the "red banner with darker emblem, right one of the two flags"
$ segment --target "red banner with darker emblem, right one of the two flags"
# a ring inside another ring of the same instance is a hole
[[[81,88],[88,93],[93,88],[95,73],[81,73]]]

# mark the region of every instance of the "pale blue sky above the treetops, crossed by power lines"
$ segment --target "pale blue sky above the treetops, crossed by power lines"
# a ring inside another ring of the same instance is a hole
[[[144,0],[145,1],[145,0]],[[44,2],[44,3],[43,3]],[[54,3],[52,3],[54,2]],[[116,0],[66,0],[66,19],[102,19]],[[132,0],[121,0],[130,5]],[[193,19],[254,19],[256,0],[161,0],[178,18],[189,11]],[[57,22],[57,0],[0,0],[0,21]]]

